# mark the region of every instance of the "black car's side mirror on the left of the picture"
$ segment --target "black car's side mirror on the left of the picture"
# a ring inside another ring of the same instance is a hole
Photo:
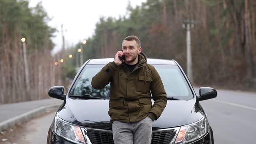
[[[58,98],[64,100],[66,95],[64,95],[64,86],[53,86],[49,89],[48,95],[53,98]]]

